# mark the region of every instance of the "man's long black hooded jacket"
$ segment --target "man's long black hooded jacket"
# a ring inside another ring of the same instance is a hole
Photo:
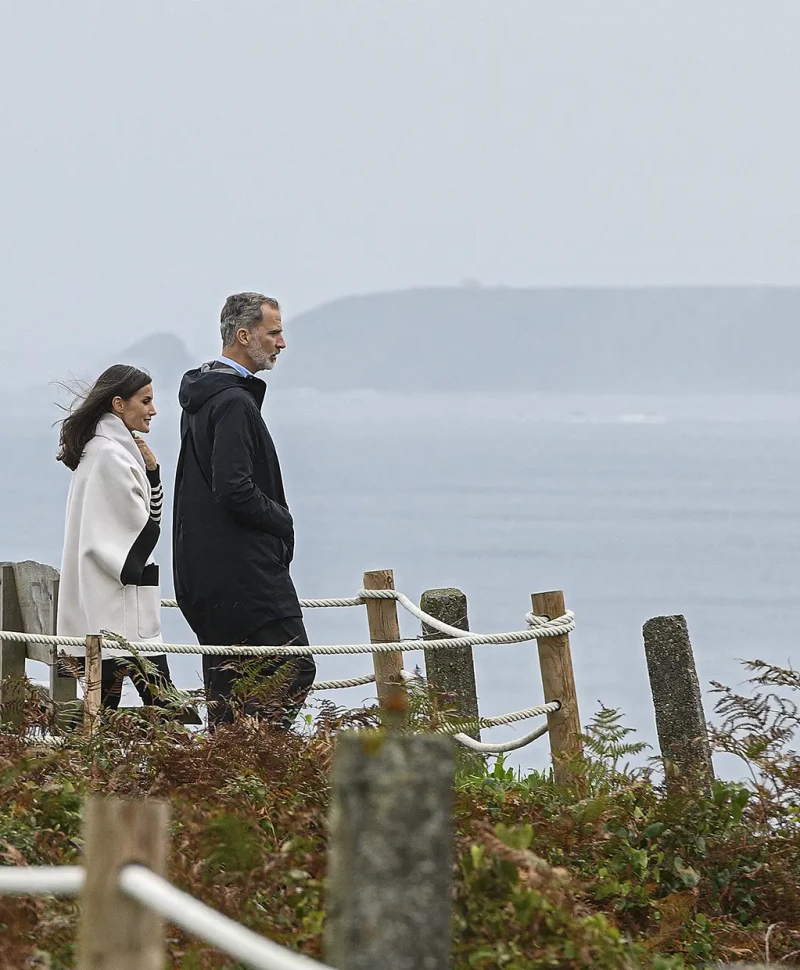
[[[292,516],[261,417],[265,391],[222,363],[181,382],[175,595],[201,643],[247,642],[265,623],[302,615],[289,576]]]

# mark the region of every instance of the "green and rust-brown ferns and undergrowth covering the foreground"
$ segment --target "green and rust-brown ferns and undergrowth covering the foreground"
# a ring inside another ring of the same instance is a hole
[[[717,751],[749,780],[667,792],[617,712],[586,734],[588,793],[502,759],[457,784],[454,967],[507,970],[722,961],[800,963],[800,727],[791,670],[749,665],[754,694],[717,686]],[[0,732],[0,856],[76,863],[89,792],[168,798],[170,878],[259,933],[321,957],[328,769],[336,734],[374,711],[323,707],[303,734],[239,721],[213,740],[152,716],[109,716],[89,739],[31,740],[31,697]],[[434,714],[418,701],[416,721]],[[149,718],[149,719],[148,719]],[[51,725],[52,727],[52,725]],[[637,764],[631,766],[631,759]],[[642,764],[644,760],[644,764]],[[73,965],[76,904],[0,897],[0,968]],[[170,966],[230,967],[169,929]]]

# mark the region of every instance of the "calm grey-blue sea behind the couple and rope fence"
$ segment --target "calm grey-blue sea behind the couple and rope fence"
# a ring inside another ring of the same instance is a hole
[[[712,680],[741,684],[741,660],[788,664],[796,652],[800,397],[275,393],[265,410],[295,516],[303,596],[353,595],[364,570],[392,568],[397,588],[417,601],[426,588],[460,587],[472,629],[498,632],[524,627],[532,592],[563,589],[577,615],[583,721],[601,703],[618,707],[649,742],[649,617],[686,616],[708,716]],[[175,415],[162,410],[159,420],[153,445],[169,468]],[[52,462],[52,435],[6,429],[0,447],[12,459],[0,482],[0,556],[57,563],[68,476]],[[165,594],[168,552],[162,540]],[[174,612],[165,638],[184,639]],[[404,636],[417,635],[413,618],[401,623]],[[367,638],[363,609],[309,612],[307,624],[312,642]],[[325,679],[371,669],[368,656],[318,662]],[[406,666],[416,663],[421,654],[409,652]],[[535,644],[479,646],[475,664],[482,713],[541,699]],[[182,686],[199,684],[193,658],[173,667]],[[333,699],[370,696],[357,688]],[[545,739],[514,758],[546,762]]]

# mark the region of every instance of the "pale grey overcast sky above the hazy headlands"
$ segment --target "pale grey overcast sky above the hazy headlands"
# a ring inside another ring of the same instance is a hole
[[[205,347],[243,289],[800,284],[798,35],[796,0],[3,0],[0,346]]]

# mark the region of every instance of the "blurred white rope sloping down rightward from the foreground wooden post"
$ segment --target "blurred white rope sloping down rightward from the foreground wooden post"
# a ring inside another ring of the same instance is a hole
[[[254,970],[332,970],[327,964],[264,939],[176,889],[144,866],[125,866],[119,875],[119,885],[123,892],[138,899],[148,909]]]

